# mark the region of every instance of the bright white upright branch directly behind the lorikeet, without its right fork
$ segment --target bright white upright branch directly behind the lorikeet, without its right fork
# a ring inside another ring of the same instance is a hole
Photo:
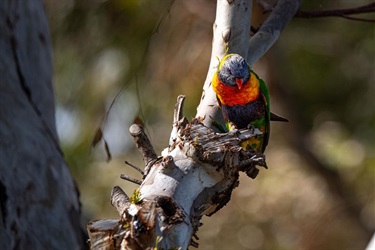
[[[212,53],[201,102],[196,118],[207,127],[215,129],[212,121],[224,123],[216,94],[211,88],[212,77],[217,70],[218,58],[228,53],[246,55],[250,37],[252,0],[218,0],[213,25]],[[228,51],[227,51],[228,50]]]

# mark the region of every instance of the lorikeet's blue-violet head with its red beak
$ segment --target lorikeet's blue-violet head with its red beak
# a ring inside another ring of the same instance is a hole
[[[242,56],[229,54],[220,62],[218,77],[225,85],[241,89],[250,79],[250,67]]]

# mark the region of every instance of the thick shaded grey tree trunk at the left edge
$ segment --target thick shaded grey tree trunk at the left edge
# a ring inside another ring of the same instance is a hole
[[[1,1],[0,30],[0,249],[81,249],[78,193],[55,128],[43,1]]]

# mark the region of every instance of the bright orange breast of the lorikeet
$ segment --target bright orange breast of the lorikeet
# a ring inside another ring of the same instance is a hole
[[[259,81],[253,73],[250,75],[250,80],[244,83],[241,89],[237,86],[229,87],[225,85],[215,74],[212,87],[220,102],[225,106],[245,105],[254,101],[260,94]]]

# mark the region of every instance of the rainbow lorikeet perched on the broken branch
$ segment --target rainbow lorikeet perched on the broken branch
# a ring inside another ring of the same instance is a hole
[[[287,121],[271,113],[266,83],[250,69],[243,57],[228,54],[219,63],[212,87],[228,129],[259,129],[262,135],[245,141],[242,147],[263,153],[270,136],[270,121]]]

